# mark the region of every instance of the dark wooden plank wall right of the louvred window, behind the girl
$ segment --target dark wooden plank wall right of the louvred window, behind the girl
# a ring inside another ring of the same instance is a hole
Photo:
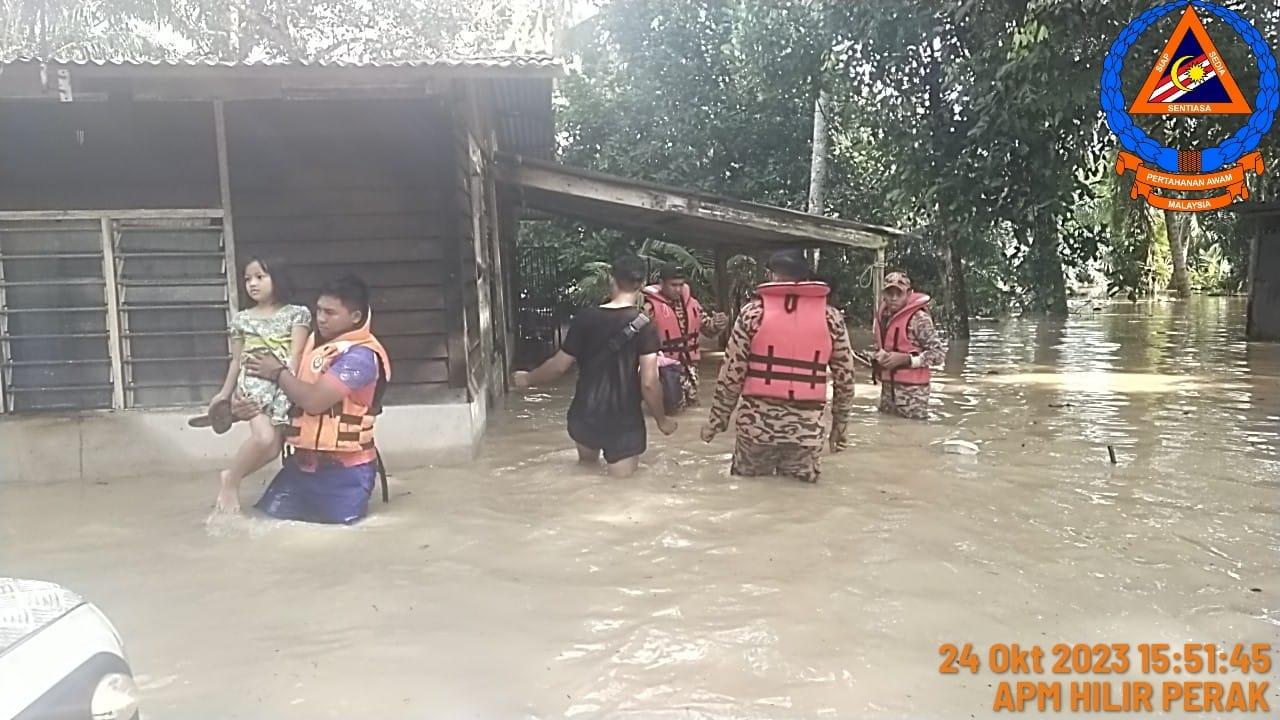
[[[369,283],[388,404],[457,401],[448,118],[430,100],[227,104],[238,259],[284,259],[308,304],[339,274]]]

